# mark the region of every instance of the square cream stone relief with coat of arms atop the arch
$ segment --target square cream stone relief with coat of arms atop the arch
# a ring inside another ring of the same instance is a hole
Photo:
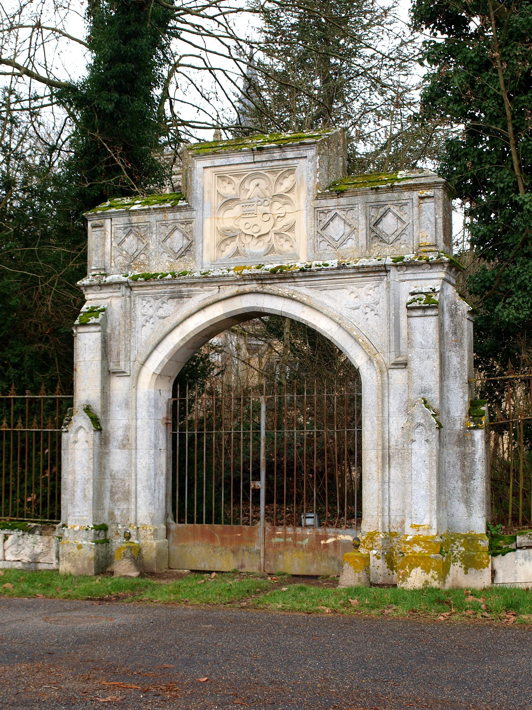
[[[215,175],[215,259],[297,257],[296,168]]]

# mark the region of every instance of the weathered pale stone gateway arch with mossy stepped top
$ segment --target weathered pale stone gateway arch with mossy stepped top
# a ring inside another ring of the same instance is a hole
[[[174,378],[216,334],[274,314],[360,373],[362,528],[340,584],[490,584],[486,417],[445,181],[345,175],[333,130],[187,146],[183,192],[86,215],[60,571],[113,569],[126,530],[145,571],[166,569]]]

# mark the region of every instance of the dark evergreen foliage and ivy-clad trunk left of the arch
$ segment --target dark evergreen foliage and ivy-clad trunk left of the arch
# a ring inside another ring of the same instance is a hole
[[[72,390],[72,324],[87,273],[83,213],[112,195],[142,195],[162,187],[165,133],[157,111],[171,11],[136,0],[89,5],[93,50],[87,77],[55,91],[74,123],[62,160],[57,136],[38,116],[11,110],[4,91],[4,154],[0,166],[0,390],[11,382],[36,392],[57,381]]]

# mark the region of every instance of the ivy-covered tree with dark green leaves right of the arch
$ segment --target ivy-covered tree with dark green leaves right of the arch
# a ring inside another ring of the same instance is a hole
[[[423,118],[463,127],[439,172],[464,204],[477,260],[475,351],[484,368],[519,365],[532,335],[532,4],[416,0],[413,17],[432,35]]]

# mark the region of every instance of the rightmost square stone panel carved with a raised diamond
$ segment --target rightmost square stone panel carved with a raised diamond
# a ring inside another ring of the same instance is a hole
[[[372,251],[409,253],[414,250],[412,202],[377,202],[367,205],[367,228]]]

